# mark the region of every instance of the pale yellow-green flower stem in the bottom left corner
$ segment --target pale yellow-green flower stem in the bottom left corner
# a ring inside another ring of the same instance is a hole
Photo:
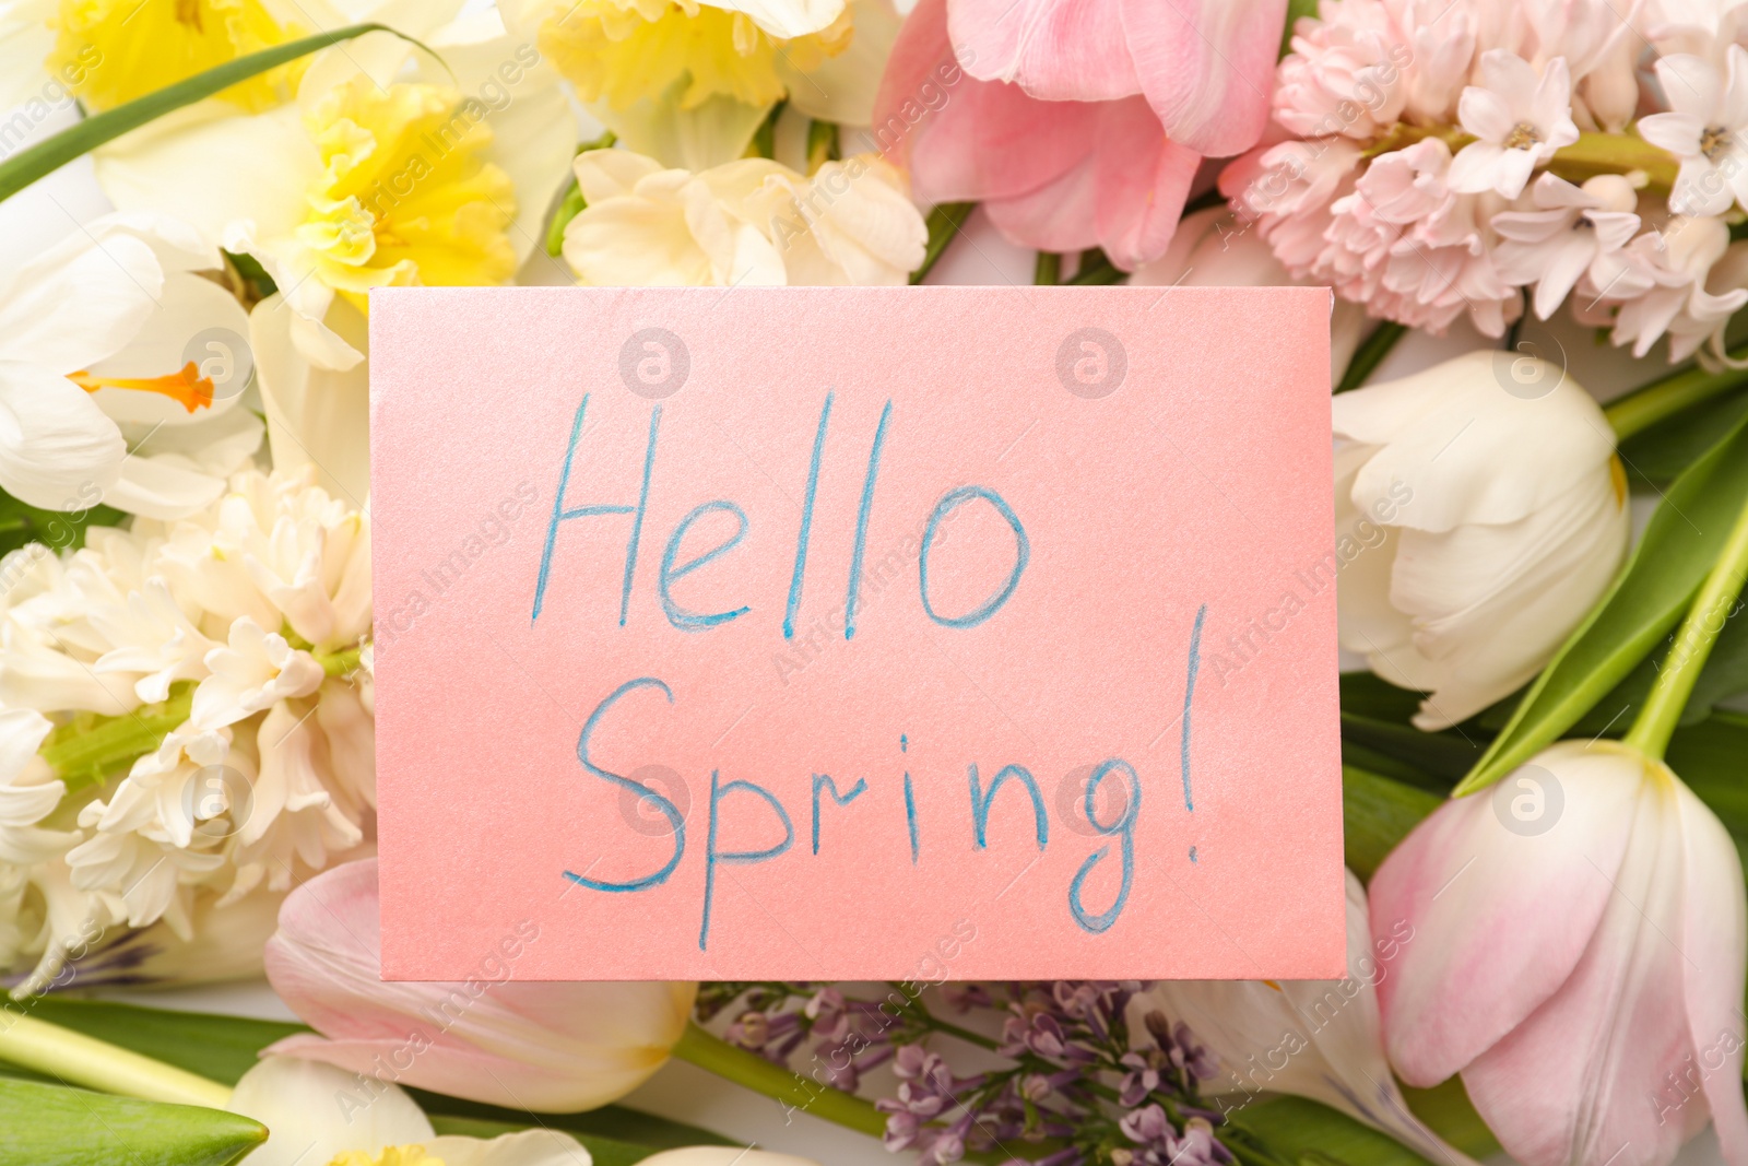
[[[213,1110],[222,1110],[231,1101],[231,1089],[215,1080],[12,1009],[0,1012],[0,1059],[66,1086],[147,1101]]]

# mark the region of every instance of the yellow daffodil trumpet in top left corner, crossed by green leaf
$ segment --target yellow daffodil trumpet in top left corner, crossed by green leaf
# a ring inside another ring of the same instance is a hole
[[[260,0],[61,0],[49,23],[58,35],[47,68],[93,112],[302,33]],[[302,70],[292,61],[218,96],[260,112],[288,101]]]

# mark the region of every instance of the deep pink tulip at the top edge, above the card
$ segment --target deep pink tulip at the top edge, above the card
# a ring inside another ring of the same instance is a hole
[[[1283,12],[921,0],[881,79],[874,143],[925,203],[982,203],[1019,246],[1101,246],[1133,271],[1171,243],[1203,154],[1262,135]]]

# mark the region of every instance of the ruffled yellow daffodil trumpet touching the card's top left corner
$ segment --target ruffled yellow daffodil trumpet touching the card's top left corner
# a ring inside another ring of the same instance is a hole
[[[316,278],[365,309],[392,285],[503,283],[516,273],[510,177],[479,157],[484,107],[456,89],[369,77],[336,86],[308,117],[322,180],[295,238]]]

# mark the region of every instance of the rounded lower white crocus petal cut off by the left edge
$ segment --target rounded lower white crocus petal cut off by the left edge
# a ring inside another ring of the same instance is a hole
[[[128,455],[91,395],[35,364],[0,362],[0,488],[45,510],[100,500]]]

